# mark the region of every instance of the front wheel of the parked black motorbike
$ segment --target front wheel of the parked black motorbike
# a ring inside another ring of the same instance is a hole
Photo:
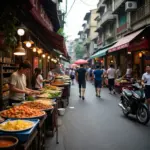
[[[137,120],[146,125],[149,122],[149,110],[145,105],[141,105],[136,113]]]

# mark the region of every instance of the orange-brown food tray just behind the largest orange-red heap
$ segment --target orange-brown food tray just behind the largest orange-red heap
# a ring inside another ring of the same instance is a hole
[[[53,108],[53,106],[46,105],[41,102],[27,102],[27,103],[22,104],[22,106],[27,106],[29,108],[39,109],[39,110],[46,110],[46,109]]]

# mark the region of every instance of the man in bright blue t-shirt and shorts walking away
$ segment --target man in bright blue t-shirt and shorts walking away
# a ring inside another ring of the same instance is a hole
[[[100,66],[96,66],[96,70],[93,73],[95,77],[95,91],[96,91],[96,96],[100,97],[100,92],[102,88],[102,75],[103,75],[103,70],[100,69]]]

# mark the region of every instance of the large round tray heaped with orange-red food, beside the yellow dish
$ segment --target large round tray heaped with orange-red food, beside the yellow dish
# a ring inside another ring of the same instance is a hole
[[[27,106],[14,106],[10,109],[3,110],[0,112],[0,116],[3,118],[21,118],[21,119],[31,119],[31,118],[41,118],[46,113],[38,109],[32,109]]]

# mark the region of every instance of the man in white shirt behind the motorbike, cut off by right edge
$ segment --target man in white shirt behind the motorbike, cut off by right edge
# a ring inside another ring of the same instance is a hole
[[[145,96],[147,103],[150,104],[150,66],[146,67],[146,73],[142,76],[142,84],[145,85]]]

